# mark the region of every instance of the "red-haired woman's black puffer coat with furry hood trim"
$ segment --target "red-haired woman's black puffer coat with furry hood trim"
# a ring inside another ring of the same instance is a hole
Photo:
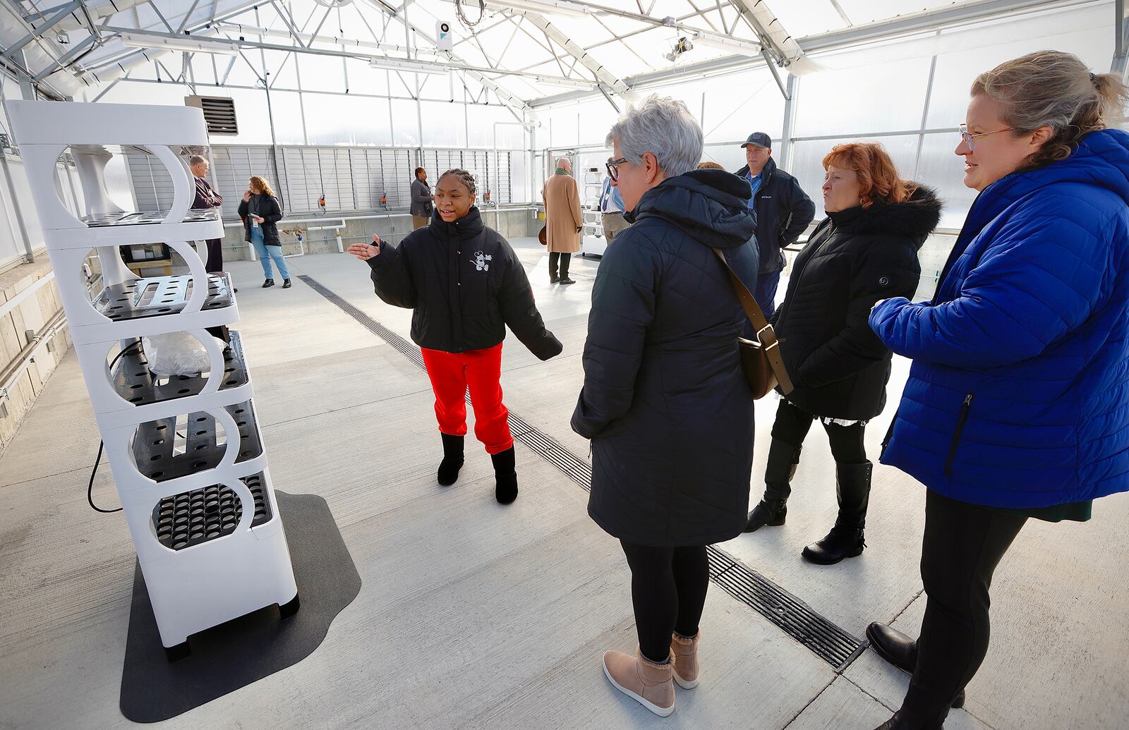
[[[859,421],[882,413],[892,355],[870,329],[879,299],[913,296],[918,249],[940,219],[940,200],[918,187],[901,203],[829,213],[796,256],[773,326],[796,389],[813,415]]]

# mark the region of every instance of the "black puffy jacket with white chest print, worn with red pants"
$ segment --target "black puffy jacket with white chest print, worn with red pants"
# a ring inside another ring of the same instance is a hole
[[[506,338],[506,325],[542,360],[560,354],[545,329],[517,254],[487,228],[478,208],[447,223],[438,216],[399,247],[380,243],[368,260],[385,302],[413,309],[412,340],[428,350],[485,350]]]

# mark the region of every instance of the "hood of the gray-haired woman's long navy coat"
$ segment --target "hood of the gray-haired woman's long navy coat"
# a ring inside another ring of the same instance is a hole
[[[690,170],[647,191],[634,220],[663,218],[714,248],[735,248],[756,234],[749,212],[749,181],[725,170]]]

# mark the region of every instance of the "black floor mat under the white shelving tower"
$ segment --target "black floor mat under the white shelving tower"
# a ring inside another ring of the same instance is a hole
[[[138,568],[122,669],[121,709],[128,719],[167,720],[298,663],[360,592],[360,574],[325,500],[285,492],[274,496],[298,583],[298,613],[280,621],[271,606],[229,621],[190,636],[192,653],[169,662]]]

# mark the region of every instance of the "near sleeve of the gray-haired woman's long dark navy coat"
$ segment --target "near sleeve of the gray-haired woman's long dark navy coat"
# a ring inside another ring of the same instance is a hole
[[[584,345],[584,388],[572,414],[572,430],[586,439],[631,407],[660,269],[658,250],[644,235],[609,246],[599,262]]]

